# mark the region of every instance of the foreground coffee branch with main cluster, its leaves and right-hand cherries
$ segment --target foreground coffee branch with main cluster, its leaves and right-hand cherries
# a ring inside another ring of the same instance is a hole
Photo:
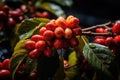
[[[10,58],[10,77],[119,80],[119,29],[114,28],[119,26],[116,21],[82,28],[72,15],[26,19],[17,29],[20,40]]]

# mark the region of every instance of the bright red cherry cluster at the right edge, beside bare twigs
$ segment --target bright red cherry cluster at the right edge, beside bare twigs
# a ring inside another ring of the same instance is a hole
[[[96,28],[96,33],[109,33],[109,31],[106,28]],[[113,35],[95,36],[94,43],[106,45],[117,54],[120,47],[120,21],[116,21],[111,26],[111,33]]]

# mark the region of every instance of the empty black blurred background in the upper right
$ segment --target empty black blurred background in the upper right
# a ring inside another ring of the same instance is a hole
[[[84,27],[120,19],[120,0],[73,0],[71,8],[65,8],[67,15],[80,19]]]

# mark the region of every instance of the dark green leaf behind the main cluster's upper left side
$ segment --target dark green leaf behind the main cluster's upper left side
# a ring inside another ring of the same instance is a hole
[[[48,23],[49,19],[46,18],[31,18],[31,19],[25,19],[21,25],[16,28],[16,33],[18,35],[24,34],[29,32],[30,30],[34,29],[36,26],[38,26],[40,23]]]

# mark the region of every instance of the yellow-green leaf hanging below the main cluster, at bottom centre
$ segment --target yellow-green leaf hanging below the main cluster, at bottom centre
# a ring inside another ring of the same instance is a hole
[[[66,69],[65,73],[65,79],[64,80],[75,80],[76,76],[78,75],[78,63],[77,63],[78,59],[77,59],[77,55],[76,52],[73,51],[72,53],[70,53],[69,57],[68,57],[68,64],[69,64],[69,68]]]

